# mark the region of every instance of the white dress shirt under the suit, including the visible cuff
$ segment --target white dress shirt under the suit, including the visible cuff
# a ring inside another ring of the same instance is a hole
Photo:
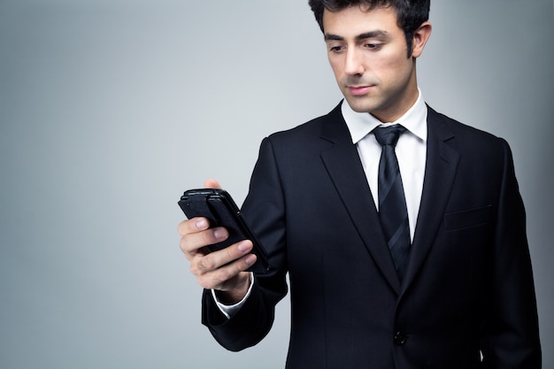
[[[372,191],[373,202],[379,210],[378,177],[379,161],[381,159],[381,144],[375,139],[373,129],[387,127],[394,124],[400,124],[406,128],[404,134],[400,135],[396,142],[396,158],[402,183],[404,186],[404,196],[406,198],[406,208],[408,209],[408,221],[410,223],[410,238],[413,241],[416,221],[419,213],[419,203],[421,202],[421,193],[423,192],[423,179],[425,177],[425,165],[427,158],[427,105],[423,100],[421,91],[418,88],[418,100],[412,105],[404,115],[394,122],[383,123],[369,113],[356,112],[350,108],[349,104],[342,102],[342,117],[350,131],[352,143],[358,149],[359,158],[364,166],[365,178],[369,188]],[[242,303],[250,296],[250,289],[254,281],[253,273],[250,273],[250,288],[242,301],[235,305],[224,305],[219,303],[212,290],[212,296],[219,310],[227,318],[230,318],[235,311],[238,311]]]

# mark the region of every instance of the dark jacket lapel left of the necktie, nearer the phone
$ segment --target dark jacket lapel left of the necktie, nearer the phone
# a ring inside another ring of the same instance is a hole
[[[381,223],[365,179],[358,150],[350,139],[340,105],[331,111],[327,118],[322,127],[321,138],[330,145],[321,151],[321,159],[365,247],[390,286],[398,291],[400,283],[395,265],[381,231]]]

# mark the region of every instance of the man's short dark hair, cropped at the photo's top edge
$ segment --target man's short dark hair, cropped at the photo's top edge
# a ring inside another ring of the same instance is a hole
[[[413,32],[429,19],[431,0],[309,0],[315,19],[321,32],[323,29],[323,11],[339,12],[349,6],[358,5],[365,11],[381,7],[391,7],[396,11],[398,27],[404,30],[408,46],[408,58],[412,56]]]

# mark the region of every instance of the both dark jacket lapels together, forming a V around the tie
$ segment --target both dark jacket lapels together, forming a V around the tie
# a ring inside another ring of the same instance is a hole
[[[431,108],[428,108],[427,125],[425,180],[410,264],[402,291],[415,278],[435,241],[458,168],[458,151],[449,144],[454,135],[442,123],[441,115]],[[379,214],[365,179],[358,150],[351,142],[348,127],[342,118],[340,105],[327,116],[321,138],[329,142],[327,149],[321,151],[321,159],[350,214],[350,219],[381,273],[390,286],[399,291],[400,282],[382,234]]]

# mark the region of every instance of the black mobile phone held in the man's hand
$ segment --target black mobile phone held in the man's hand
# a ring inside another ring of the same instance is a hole
[[[258,257],[258,260],[248,270],[256,273],[267,272],[269,264],[265,250],[250,231],[242,212],[226,190],[219,188],[189,189],[181,196],[179,206],[189,219],[204,217],[210,221],[210,227],[227,228],[229,233],[227,240],[210,245],[211,251],[225,249],[242,240],[250,240],[254,243],[252,253]]]

